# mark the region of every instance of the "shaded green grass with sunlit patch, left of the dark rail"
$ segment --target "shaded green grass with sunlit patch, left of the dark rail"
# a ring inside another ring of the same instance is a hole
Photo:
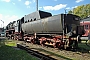
[[[16,46],[15,41],[0,41],[0,60],[38,60],[26,51],[15,49],[13,46]]]

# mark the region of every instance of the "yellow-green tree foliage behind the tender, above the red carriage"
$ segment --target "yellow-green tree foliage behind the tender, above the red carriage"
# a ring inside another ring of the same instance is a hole
[[[70,10],[68,14],[78,15],[82,19],[87,18],[90,15],[90,4],[78,6],[77,8]]]

